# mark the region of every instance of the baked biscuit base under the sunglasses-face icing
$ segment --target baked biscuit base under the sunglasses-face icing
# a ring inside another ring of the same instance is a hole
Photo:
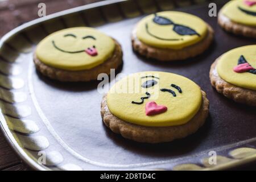
[[[147,58],[152,58],[159,61],[184,60],[188,59],[189,57],[200,55],[210,46],[214,34],[212,27],[208,25],[208,34],[200,42],[183,49],[168,49],[156,48],[144,44],[137,38],[136,28],[137,27],[134,28],[131,36],[134,51],[138,52],[140,55],[146,56]]]

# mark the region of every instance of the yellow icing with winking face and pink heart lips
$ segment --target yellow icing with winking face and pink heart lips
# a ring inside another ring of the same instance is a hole
[[[183,125],[199,111],[200,87],[186,77],[167,72],[140,72],[113,85],[107,96],[110,112],[142,126]]]

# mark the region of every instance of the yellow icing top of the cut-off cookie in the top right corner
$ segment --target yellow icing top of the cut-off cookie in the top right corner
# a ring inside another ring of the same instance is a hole
[[[256,1],[255,0],[233,0],[221,9],[222,14],[236,23],[247,26],[256,26]]]

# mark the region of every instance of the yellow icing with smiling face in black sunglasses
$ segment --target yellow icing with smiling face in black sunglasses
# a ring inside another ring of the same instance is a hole
[[[200,42],[207,31],[207,24],[195,15],[163,11],[138,23],[137,38],[156,48],[182,49]]]

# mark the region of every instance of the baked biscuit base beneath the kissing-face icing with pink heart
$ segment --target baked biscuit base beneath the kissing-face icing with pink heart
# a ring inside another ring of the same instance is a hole
[[[208,116],[209,101],[205,92],[203,90],[201,92],[203,94],[203,102],[199,111],[184,125],[147,127],[123,121],[110,112],[107,104],[107,95],[103,97],[101,102],[101,117],[109,129],[114,133],[121,134],[124,138],[144,143],[171,142],[174,139],[184,138],[195,133],[204,124]]]

